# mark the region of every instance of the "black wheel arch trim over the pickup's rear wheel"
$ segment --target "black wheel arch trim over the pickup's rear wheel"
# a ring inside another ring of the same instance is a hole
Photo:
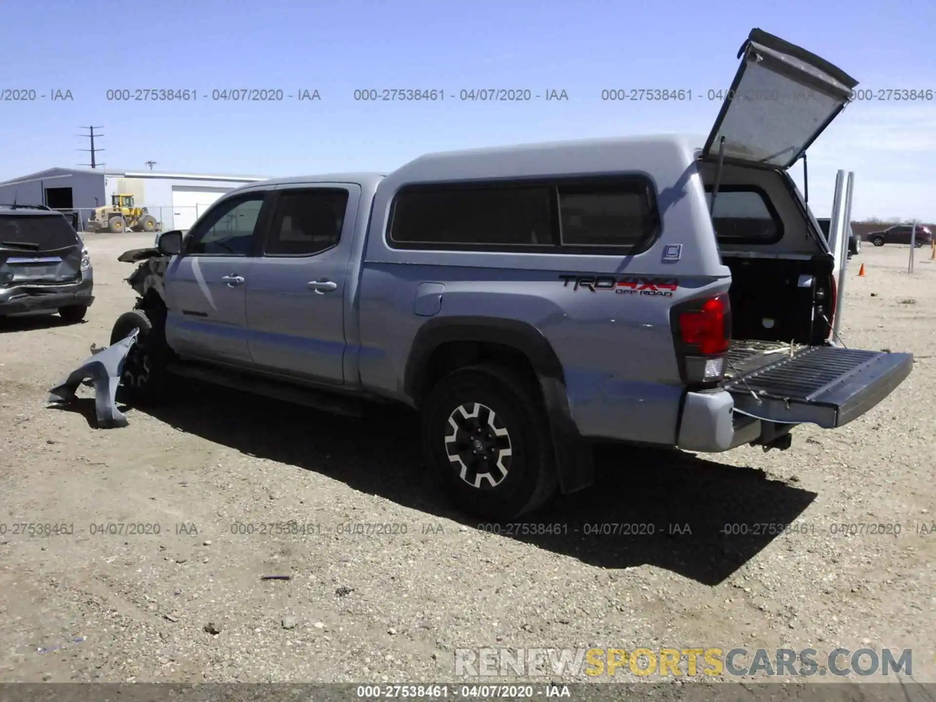
[[[423,369],[432,353],[449,342],[486,342],[518,350],[530,360],[543,394],[556,455],[556,471],[564,494],[592,485],[592,450],[578,433],[568,393],[563,365],[543,333],[516,319],[487,316],[450,316],[432,319],[417,331],[406,362],[403,390],[417,406],[428,388]]]

